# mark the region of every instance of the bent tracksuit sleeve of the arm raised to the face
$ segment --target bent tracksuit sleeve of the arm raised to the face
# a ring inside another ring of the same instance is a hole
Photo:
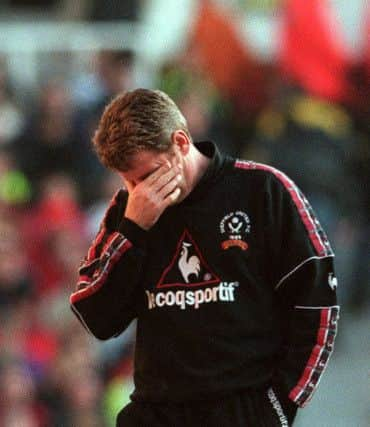
[[[138,284],[145,257],[146,232],[123,218],[113,197],[99,232],[79,268],[72,311],[98,339],[118,336],[137,316]]]

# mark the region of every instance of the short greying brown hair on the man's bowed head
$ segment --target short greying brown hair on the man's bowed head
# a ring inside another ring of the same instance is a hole
[[[136,89],[115,97],[105,108],[93,137],[104,166],[125,172],[140,151],[168,151],[171,135],[187,123],[172,99],[160,90]]]

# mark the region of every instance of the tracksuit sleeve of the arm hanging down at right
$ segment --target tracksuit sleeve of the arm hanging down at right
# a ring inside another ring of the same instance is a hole
[[[333,351],[339,317],[334,254],[298,187],[281,172],[270,184],[271,283],[285,320],[273,382],[282,399],[303,407]]]

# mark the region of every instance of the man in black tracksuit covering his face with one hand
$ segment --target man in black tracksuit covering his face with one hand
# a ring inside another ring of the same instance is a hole
[[[93,139],[114,196],[71,306],[97,338],[137,318],[118,426],[288,426],[317,387],[339,308],[333,252],[294,183],[194,144],[160,91],[119,95]]]

